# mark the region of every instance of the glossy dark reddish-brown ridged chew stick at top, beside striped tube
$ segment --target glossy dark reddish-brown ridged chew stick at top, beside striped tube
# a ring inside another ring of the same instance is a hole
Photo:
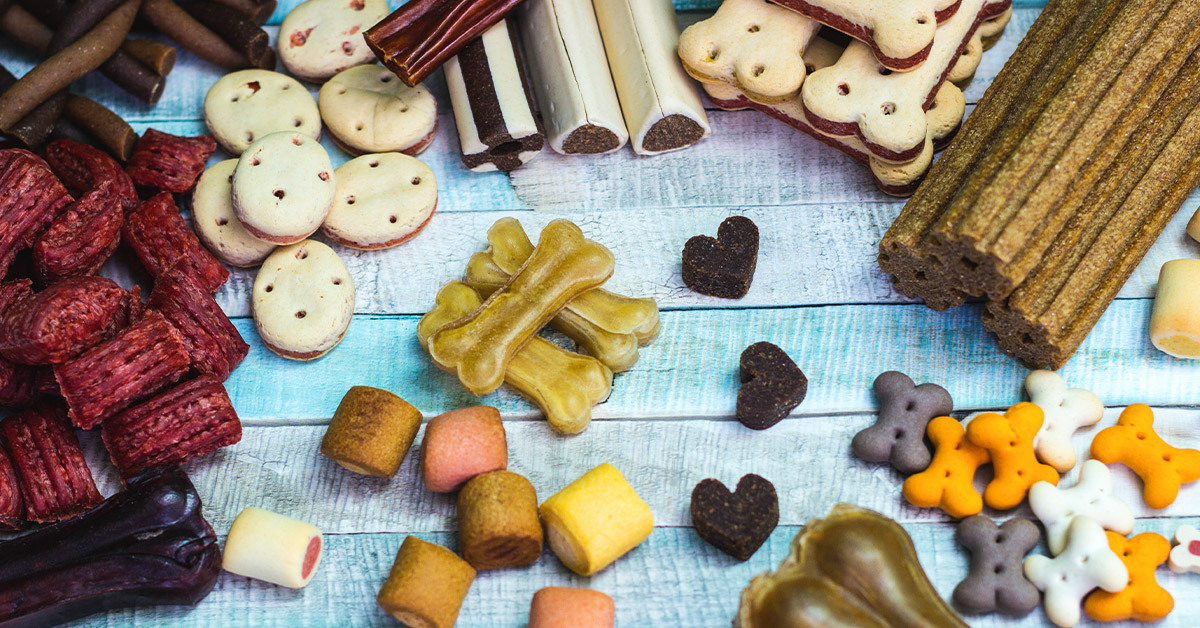
[[[364,37],[383,65],[415,86],[518,4],[521,0],[413,0],[367,29]]]

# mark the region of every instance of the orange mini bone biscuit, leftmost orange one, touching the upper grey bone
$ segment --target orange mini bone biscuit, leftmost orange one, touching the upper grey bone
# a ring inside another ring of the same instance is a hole
[[[991,455],[971,444],[966,429],[952,417],[929,421],[926,433],[934,442],[934,460],[929,468],[904,480],[905,498],[920,508],[941,508],[958,519],[979,514],[983,497],[972,480]]]

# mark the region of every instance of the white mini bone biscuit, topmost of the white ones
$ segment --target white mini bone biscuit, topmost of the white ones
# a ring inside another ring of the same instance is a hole
[[[1075,466],[1075,431],[1096,425],[1104,417],[1100,397],[1082,388],[1067,388],[1054,371],[1033,371],[1025,377],[1030,400],[1042,408],[1045,420],[1033,437],[1033,450],[1046,465],[1066,473]]]

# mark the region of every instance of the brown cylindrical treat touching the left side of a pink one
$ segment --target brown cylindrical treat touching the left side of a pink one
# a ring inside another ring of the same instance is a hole
[[[320,453],[364,476],[390,478],[400,471],[421,427],[421,411],[379,388],[350,388],[320,441]]]

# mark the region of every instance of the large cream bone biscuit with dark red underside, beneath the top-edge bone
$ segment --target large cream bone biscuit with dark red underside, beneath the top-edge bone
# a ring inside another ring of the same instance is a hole
[[[865,43],[851,42],[836,64],[804,80],[800,94],[805,118],[822,133],[857,137],[884,160],[914,159],[929,133],[925,110],[940,86],[955,65],[972,62],[961,52],[980,22],[1001,14],[1010,4],[962,0],[954,17],[938,26],[929,60],[911,72],[886,70]]]

